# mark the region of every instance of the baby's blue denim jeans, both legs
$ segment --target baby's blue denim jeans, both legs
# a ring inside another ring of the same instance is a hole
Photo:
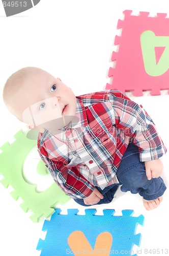
[[[162,196],[166,186],[161,177],[151,180],[147,179],[145,164],[139,160],[138,147],[132,142],[129,143],[125,154],[121,160],[117,170],[118,184],[112,184],[105,187],[103,190],[100,187],[97,189],[104,196],[97,204],[110,203],[114,198],[119,185],[123,192],[130,191],[132,194],[139,194],[145,200],[153,200]],[[74,199],[74,201],[83,206],[86,205],[83,199]]]

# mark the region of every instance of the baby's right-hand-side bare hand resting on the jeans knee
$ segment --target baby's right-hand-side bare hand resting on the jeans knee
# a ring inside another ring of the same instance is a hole
[[[152,178],[158,178],[163,170],[163,164],[160,159],[146,161],[145,167],[148,180],[151,180]]]

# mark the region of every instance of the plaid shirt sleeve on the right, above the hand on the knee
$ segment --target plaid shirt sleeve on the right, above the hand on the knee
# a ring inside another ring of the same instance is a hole
[[[139,148],[140,161],[158,159],[166,153],[153,120],[142,106],[119,91],[118,96],[109,94],[109,100],[114,109],[114,124],[125,136],[133,138]]]

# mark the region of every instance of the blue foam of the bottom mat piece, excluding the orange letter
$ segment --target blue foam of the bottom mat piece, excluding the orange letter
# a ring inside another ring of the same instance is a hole
[[[143,215],[132,217],[133,210],[123,210],[122,216],[114,216],[115,210],[110,209],[103,210],[103,216],[96,215],[95,209],[85,211],[86,215],[77,215],[77,209],[68,209],[68,215],[62,215],[60,209],[55,210],[51,220],[45,221],[43,225],[42,230],[47,231],[46,238],[40,239],[37,246],[37,250],[41,250],[41,256],[62,256],[68,252],[73,254],[67,240],[76,230],[85,234],[92,248],[100,233],[109,232],[113,239],[111,250],[118,251],[119,256],[123,256],[124,251],[132,255],[130,252],[133,245],[140,245],[142,236],[140,233],[135,234],[135,231],[137,224],[144,225]]]

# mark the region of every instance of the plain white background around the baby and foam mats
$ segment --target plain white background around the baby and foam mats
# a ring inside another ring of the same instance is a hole
[[[0,3],[0,146],[7,141],[12,143],[13,135],[24,126],[8,113],[3,103],[3,86],[11,73],[22,67],[36,66],[60,77],[76,95],[103,90],[107,82],[111,83],[111,78],[107,76],[112,66],[110,57],[112,51],[117,50],[114,39],[116,34],[120,34],[117,30],[118,19],[124,18],[123,11],[126,9],[133,10],[134,15],[138,15],[139,11],[150,12],[151,16],[159,12],[168,12],[169,15],[169,2],[41,0],[34,8],[12,17],[5,16],[3,4]],[[161,93],[161,96],[150,96],[149,92],[145,92],[143,97],[128,95],[142,104],[152,116],[165,146],[169,148],[169,96],[167,91]],[[168,154],[162,157],[162,161],[162,177],[167,185]],[[0,255],[40,255],[36,246],[39,238],[45,238],[45,233],[41,231],[44,219],[38,224],[33,223],[29,219],[30,213],[25,214],[20,208],[22,201],[16,202],[11,197],[11,190],[0,183]],[[135,253],[136,249],[142,249],[144,255],[145,249],[159,248],[161,253],[158,255],[164,255],[162,249],[169,250],[167,204],[168,190],[160,207],[152,211],[144,209],[142,198],[138,195],[119,191],[114,202],[95,208],[98,214],[102,214],[104,208],[115,209],[116,215],[121,215],[122,209],[133,209],[134,216],[143,214],[145,225],[138,226],[136,230],[142,233],[142,242],[139,248],[133,247]],[[67,208],[79,208],[79,213],[84,214],[84,207],[73,200],[62,207],[64,214]]]

